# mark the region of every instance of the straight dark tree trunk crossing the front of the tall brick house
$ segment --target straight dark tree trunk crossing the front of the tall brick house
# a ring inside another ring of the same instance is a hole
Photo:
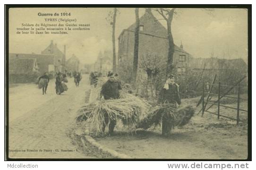
[[[134,58],[133,58],[133,86],[136,85],[137,79],[137,69],[138,69],[138,52],[139,52],[139,8],[135,8],[135,18],[136,18],[136,27],[135,27],[135,42],[134,42]]]

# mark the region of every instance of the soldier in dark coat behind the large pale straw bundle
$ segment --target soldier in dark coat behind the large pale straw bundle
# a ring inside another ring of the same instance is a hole
[[[101,96],[102,100],[110,100],[110,99],[119,99],[120,94],[119,90],[121,90],[120,84],[115,81],[114,74],[111,73],[108,75],[109,80],[102,85]],[[102,131],[105,131],[106,124],[109,124],[109,135],[113,135],[114,128],[116,125],[116,120],[114,118],[109,117],[107,114],[104,115],[105,124],[103,124]]]

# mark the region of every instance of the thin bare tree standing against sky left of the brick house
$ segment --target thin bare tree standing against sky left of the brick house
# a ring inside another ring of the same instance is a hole
[[[113,46],[113,71],[116,72],[116,43],[115,43],[115,29],[116,29],[116,16],[117,8],[114,8],[114,11],[110,11],[106,20],[112,25],[112,46]]]

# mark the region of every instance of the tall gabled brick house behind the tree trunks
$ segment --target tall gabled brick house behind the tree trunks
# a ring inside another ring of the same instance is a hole
[[[125,63],[132,66],[135,24],[133,23],[119,35],[118,65]],[[147,8],[145,14],[140,17],[139,30],[139,60],[142,56],[157,55],[159,60],[167,61],[167,29],[157,21],[151,9]],[[191,55],[183,49],[182,44],[180,46],[175,45],[174,50],[173,62],[176,66],[176,71],[179,73],[186,72],[190,65]]]

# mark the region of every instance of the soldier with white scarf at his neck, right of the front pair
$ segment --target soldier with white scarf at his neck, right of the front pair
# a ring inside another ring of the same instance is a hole
[[[165,85],[158,96],[158,102],[162,104],[171,104],[172,108],[177,108],[181,104],[179,95],[179,85],[174,82],[174,76],[170,74]],[[162,117],[162,135],[167,136],[171,132],[171,117],[168,113],[164,113]]]

